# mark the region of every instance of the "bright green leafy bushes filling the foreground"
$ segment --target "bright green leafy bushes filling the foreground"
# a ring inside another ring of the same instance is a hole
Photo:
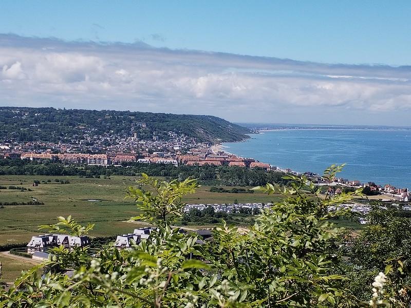
[[[340,170],[332,166],[324,177],[331,183]],[[401,218],[393,224],[394,216],[384,219],[385,212],[371,213],[372,226],[359,236],[364,238],[354,254],[356,259],[347,260],[344,249],[352,242],[352,234],[330,220],[349,216],[350,211],[330,212],[328,206],[346,203],[358,192],[313,198],[317,189],[306,177],[290,179],[293,182],[288,189],[279,190],[271,184],[258,187],[269,195],[282,191],[285,199],[264,210],[250,226],[250,232],[244,234],[222,222],[211,231],[211,241],[198,241],[197,234],[182,234],[171,227],[183,214],[181,200],[194,191],[197,183],[159,182],[143,175],[139,184],[149,189],[130,187],[127,192],[139,209],[139,216],[133,219],[156,226],[150,238],[132,249],[105,247],[91,253],[82,247],[73,251],[52,249],[55,258],[47,264],[52,271],[45,278],[40,278],[35,268],[25,273],[10,290],[0,290],[0,302],[10,307],[23,303],[71,307],[335,308],[388,307],[391,301],[395,307],[409,307],[409,220]],[[211,214],[212,209],[208,208],[207,213]],[[59,221],[42,228],[73,235],[86,234],[92,228],[71,217],[60,217]],[[61,275],[66,268],[74,270],[73,277]],[[351,274],[359,269],[366,272],[351,280]],[[381,269],[388,276],[386,280],[383,273],[378,274]],[[364,278],[377,274],[381,279],[375,279],[378,285],[373,284],[372,290],[372,279]],[[388,292],[382,291],[384,284],[392,284],[386,288]],[[357,292],[358,285],[367,288]]]

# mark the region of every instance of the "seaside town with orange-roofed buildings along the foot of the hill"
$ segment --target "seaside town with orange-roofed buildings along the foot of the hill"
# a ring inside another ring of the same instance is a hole
[[[0,144],[0,159],[22,159],[30,161],[52,160],[65,164],[122,166],[128,163],[171,164],[173,166],[229,166],[238,168],[277,170],[293,175],[301,175],[291,169],[281,169],[253,158],[242,158],[223,150],[220,144],[197,142],[181,133],[169,131],[166,138],[160,138],[157,131],[150,139],[144,136],[146,123],[134,124],[127,134],[92,134],[85,129],[83,136],[73,136],[70,140],[53,142],[17,142],[8,140]],[[358,180],[335,178],[328,183],[313,172],[304,175],[315,184],[329,185],[329,195],[339,195],[342,187],[366,187],[371,194],[381,195],[382,200],[408,202],[411,198],[408,188],[398,188],[390,184],[377,185],[374,182],[361,183]]]

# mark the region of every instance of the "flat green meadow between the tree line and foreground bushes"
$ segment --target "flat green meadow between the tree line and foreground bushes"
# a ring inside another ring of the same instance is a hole
[[[68,180],[58,184],[54,180]],[[34,180],[49,184],[32,186]],[[95,223],[90,235],[106,236],[130,233],[139,224],[126,222],[138,214],[133,200],[124,199],[126,188],[135,184],[135,177],[113,176],[111,179],[48,176],[0,176],[0,186],[22,186],[33,191],[0,189],[0,202],[29,202],[33,198],[44,205],[5,205],[0,208],[0,244],[27,242],[31,236],[44,233],[38,226],[56,222],[57,216],[67,217],[82,223]],[[186,203],[239,203],[270,202],[279,196],[255,194],[230,194],[210,192],[202,186]],[[100,201],[88,201],[91,199]]]

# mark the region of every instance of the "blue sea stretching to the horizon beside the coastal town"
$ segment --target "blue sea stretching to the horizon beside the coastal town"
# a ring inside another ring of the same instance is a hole
[[[260,131],[247,141],[222,146],[297,172],[323,174],[328,166],[345,163],[339,177],[411,188],[411,128],[291,127]]]

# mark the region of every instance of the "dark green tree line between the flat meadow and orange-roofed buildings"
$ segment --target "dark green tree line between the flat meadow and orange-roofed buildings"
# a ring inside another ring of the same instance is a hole
[[[266,183],[287,185],[290,180],[284,179],[284,172],[252,170],[229,166],[185,166],[175,167],[167,164],[126,163],[116,166],[75,166],[62,162],[43,160],[0,160],[0,175],[33,175],[33,176],[79,176],[94,178],[100,176],[140,176],[145,173],[155,177],[183,180],[195,178],[201,184],[218,184],[224,186],[258,186]]]

